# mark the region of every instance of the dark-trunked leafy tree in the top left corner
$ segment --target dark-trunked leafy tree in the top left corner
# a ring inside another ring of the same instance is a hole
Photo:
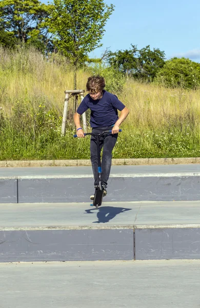
[[[46,21],[48,6],[38,0],[2,0],[0,2],[0,42],[13,36],[18,42],[39,49],[51,46]]]

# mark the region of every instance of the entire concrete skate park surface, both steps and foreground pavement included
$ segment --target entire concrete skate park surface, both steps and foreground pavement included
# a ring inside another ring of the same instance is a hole
[[[200,307],[199,183],[112,166],[96,210],[91,167],[0,168],[0,307]]]

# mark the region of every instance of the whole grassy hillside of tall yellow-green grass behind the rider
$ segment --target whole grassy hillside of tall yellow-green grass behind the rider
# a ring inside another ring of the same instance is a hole
[[[34,49],[0,49],[0,58],[0,160],[89,159],[89,138],[72,137],[72,100],[61,137],[64,90],[73,89],[69,63],[58,54],[44,59]],[[119,84],[119,75],[104,67],[79,69],[77,88],[85,89],[93,71],[105,75],[108,90],[130,110],[113,158],[199,156],[199,90],[127,79],[117,92],[124,79]]]

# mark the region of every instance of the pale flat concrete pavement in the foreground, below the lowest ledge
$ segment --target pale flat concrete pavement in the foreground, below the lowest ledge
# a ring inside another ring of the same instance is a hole
[[[198,308],[200,260],[0,263],[1,308]]]

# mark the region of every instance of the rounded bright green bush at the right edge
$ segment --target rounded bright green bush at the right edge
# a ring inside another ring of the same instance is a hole
[[[155,79],[167,87],[196,89],[200,86],[200,64],[184,57],[166,61]]]

